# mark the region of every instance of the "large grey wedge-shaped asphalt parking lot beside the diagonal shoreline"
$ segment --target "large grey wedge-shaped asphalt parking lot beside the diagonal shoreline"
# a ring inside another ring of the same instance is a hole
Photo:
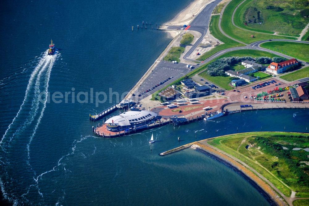
[[[142,85],[139,86],[138,90],[134,93],[135,96],[132,96],[131,99],[139,101],[149,96],[150,94],[153,94],[159,89],[162,89],[172,81],[175,81],[176,79],[188,74],[192,70],[188,69],[186,66],[187,65],[184,63],[173,64],[173,62],[161,61],[158,66],[153,69],[153,71],[142,83]],[[160,82],[164,83],[160,84]],[[157,86],[158,84],[159,86]],[[147,90],[148,92],[146,92]]]

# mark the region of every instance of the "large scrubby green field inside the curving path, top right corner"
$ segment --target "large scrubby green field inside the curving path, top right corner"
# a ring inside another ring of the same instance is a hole
[[[306,0],[279,0],[271,2],[269,0],[247,0],[240,5],[235,12],[234,23],[245,29],[252,31],[273,33],[279,32],[282,35],[299,36],[300,32],[308,24],[309,19],[300,15],[300,11],[308,9]],[[279,6],[283,11],[273,11],[266,9],[267,6]],[[261,12],[262,24],[251,23],[244,25],[245,13],[249,8],[256,8]]]

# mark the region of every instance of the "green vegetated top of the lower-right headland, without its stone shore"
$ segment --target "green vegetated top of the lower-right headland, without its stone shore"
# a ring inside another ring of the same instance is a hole
[[[309,171],[308,165],[299,163],[307,160],[307,153],[292,150],[295,147],[306,148],[309,134],[250,132],[214,138],[208,143],[254,168],[284,195],[290,196],[293,190],[304,192],[302,196],[309,197],[309,177],[303,172]],[[282,146],[288,149],[284,150]]]

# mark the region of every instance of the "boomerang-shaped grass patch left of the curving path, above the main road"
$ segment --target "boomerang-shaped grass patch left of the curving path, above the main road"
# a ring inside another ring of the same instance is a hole
[[[218,51],[221,51],[223,49],[236,47],[236,46],[244,46],[243,44],[240,44],[240,43],[238,43],[234,40],[231,40],[230,38],[224,36],[220,32],[219,27],[218,27],[219,18],[220,18],[220,15],[214,15],[214,16],[211,17],[209,31],[210,31],[211,35],[213,35],[218,40],[224,42],[224,44],[220,44],[220,45],[216,46],[215,48],[210,49],[208,52],[205,52],[203,55],[201,55],[199,58],[197,58],[197,60],[203,61],[206,58],[210,57],[211,55],[213,55],[213,54],[215,54]]]

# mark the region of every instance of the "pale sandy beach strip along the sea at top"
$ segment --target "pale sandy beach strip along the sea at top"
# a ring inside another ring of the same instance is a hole
[[[207,4],[212,0],[195,0],[191,2],[184,10],[180,11],[171,21],[166,22],[164,25],[183,25],[191,22],[194,16],[199,14]]]

